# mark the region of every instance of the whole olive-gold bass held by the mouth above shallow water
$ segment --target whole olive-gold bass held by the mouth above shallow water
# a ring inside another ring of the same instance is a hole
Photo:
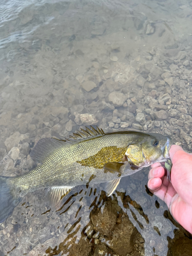
[[[157,133],[120,131],[104,133],[90,126],[67,139],[42,138],[30,153],[38,163],[26,174],[0,176],[0,223],[29,192],[45,188],[58,204],[77,185],[105,182],[111,196],[121,178],[169,158],[172,139]]]

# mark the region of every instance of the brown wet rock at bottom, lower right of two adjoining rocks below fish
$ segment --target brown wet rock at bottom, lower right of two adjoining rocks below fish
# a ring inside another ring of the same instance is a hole
[[[109,247],[119,255],[126,255],[133,251],[137,233],[136,227],[126,215],[121,218],[120,224],[115,225]]]

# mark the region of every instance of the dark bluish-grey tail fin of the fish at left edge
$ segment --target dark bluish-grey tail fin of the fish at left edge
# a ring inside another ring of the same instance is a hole
[[[11,178],[0,176],[0,223],[11,215],[15,206],[19,203],[19,198],[17,199],[12,195],[11,187],[7,182]]]

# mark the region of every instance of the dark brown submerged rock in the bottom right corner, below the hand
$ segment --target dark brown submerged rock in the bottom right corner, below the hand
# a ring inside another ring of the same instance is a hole
[[[192,256],[192,240],[183,237],[177,239],[172,246],[173,256]]]

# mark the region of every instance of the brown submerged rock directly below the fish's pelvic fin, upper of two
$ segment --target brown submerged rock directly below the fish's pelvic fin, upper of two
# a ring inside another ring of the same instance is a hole
[[[117,219],[117,210],[114,204],[106,202],[105,205],[94,213],[91,212],[90,219],[94,225],[94,230],[101,233],[104,236],[108,236],[112,233]]]

